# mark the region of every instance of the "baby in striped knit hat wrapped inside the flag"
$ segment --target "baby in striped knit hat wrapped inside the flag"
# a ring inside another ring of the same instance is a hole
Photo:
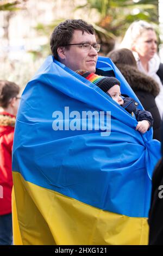
[[[137,108],[138,103],[130,98],[121,96],[120,81],[115,77],[98,76],[86,70],[77,70],[77,74],[85,77],[87,80],[96,84],[100,89],[108,94],[118,105],[121,105],[132,116],[135,115],[138,124],[136,131],[145,133],[153,126],[153,118],[150,112]]]

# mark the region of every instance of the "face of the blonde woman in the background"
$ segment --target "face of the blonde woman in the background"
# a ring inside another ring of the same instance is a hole
[[[133,51],[137,52],[140,58],[145,58],[149,61],[156,53],[157,45],[156,33],[152,29],[148,29],[137,38]]]

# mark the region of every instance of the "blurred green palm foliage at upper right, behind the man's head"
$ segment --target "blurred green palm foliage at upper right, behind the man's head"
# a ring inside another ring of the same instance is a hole
[[[87,0],[82,8],[89,12],[96,9],[100,16],[94,25],[98,40],[110,51],[114,40],[123,36],[129,25],[135,20],[146,20],[158,24],[158,1],[150,0]],[[108,49],[106,47],[108,44]],[[105,54],[105,52],[104,52]]]

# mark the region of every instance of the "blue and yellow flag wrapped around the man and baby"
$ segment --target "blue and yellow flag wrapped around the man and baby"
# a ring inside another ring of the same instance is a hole
[[[122,94],[139,101],[109,58],[99,57],[97,68],[114,70]],[[96,111],[92,129],[82,115],[88,111]],[[111,129],[96,129],[98,113],[107,111]],[[23,245],[147,243],[160,143],[152,129],[142,135],[136,125],[97,86],[52,56],[45,60],[24,89],[15,127],[12,174]]]

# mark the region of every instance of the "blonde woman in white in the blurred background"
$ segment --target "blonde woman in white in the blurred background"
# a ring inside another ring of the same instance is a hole
[[[146,21],[135,21],[131,23],[124,35],[120,48],[131,50],[134,54],[137,68],[158,82],[160,93],[156,96],[155,102],[162,118],[163,86],[157,74],[160,66],[160,58],[157,54],[158,39],[153,26]]]

